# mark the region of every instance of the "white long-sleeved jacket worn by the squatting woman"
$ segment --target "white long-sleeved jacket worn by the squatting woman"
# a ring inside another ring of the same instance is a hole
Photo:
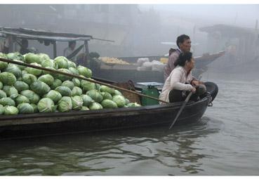
[[[184,67],[175,67],[175,69],[173,69],[169,77],[166,79],[159,99],[169,102],[169,93],[172,89],[192,91],[192,85],[190,85],[192,79],[192,72],[190,72],[190,74],[187,76],[187,72],[185,71]],[[164,102],[160,102],[160,104],[163,103]]]

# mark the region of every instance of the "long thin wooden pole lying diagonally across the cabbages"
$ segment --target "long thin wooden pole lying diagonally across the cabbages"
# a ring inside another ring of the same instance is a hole
[[[36,69],[42,69],[42,70],[45,70],[45,71],[48,71],[48,72],[53,72],[53,73],[58,73],[58,74],[63,74],[63,75],[67,75],[69,77],[74,77],[74,78],[77,78],[77,79],[84,79],[86,81],[90,81],[90,82],[93,82],[95,84],[101,84],[101,85],[105,85],[105,86],[109,86],[110,88],[117,88],[121,91],[127,91],[129,93],[134,93],[136,95],[140,95],[140,96],[143,96],[143,97],[146,97],[146,98],[151,98],[153,100],[158,100],[158,101],[161,101],[161,102],[165,102],[165,103],[169,103],[169,102],[166,102],[164,100],[159,100],[159,98],[154,98],[152,96],[149,96],[149,95],[143,95],[141,93],[138,93],[138,92],[135,92],[135,91],[131,91],[131,90],[128,90],[128,89],[125,89],[125,88],[120,88],[118,86],[113,86],[111,84],[106,84],[106,83],[103,83],[101,81],[96,81],[94,79],[89,79],[89,78],[86,78],[86,77],[80,77],[78,75],[75,75],[75,74],[69,74],[69,73],[65,73],[65,72],[60,72],[58,70],[54,70],[54,69],[48,69],[48,68],[45,68],[45,67],[38,67],[36,65],[31,65],[31,64],[27,64],[25,62],[18,62],[18,61],[13,61],[13,60],[8,60],[8,59],[5,59],[5,58],[0,58],[0,61],[2,62],[10,62],[10,63],[13,63],[13,64],[16,64],[16,65],[22,65],[22,66],[26,66],[26,67],[32,67],[32,68],[36,68]]]

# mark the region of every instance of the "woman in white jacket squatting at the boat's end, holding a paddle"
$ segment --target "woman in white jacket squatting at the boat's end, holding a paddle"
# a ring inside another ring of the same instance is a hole
[[[187,93],[192,91],[194,94],[190,100],[199,100],[199,95],[206,93],[206,86],[192,77],[192,69],[194,68],[192,53],[180,53],[174,65],[175,68],[166,79],[159,99],[166,102],[180,102],[185,100]]]

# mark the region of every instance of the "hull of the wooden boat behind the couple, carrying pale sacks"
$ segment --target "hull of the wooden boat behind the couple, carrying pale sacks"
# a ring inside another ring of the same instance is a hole
[[[224,55],[225,51],[220,51],[213,54],[204,54],[202,56],[195,57],[195,68],[192,70],[194,77],[199,77],[203,72],[206,72],[207,65],[220,58]],[[144,82],[144,81],[156,81],[158,83],[164,84],[164,71],[155,71],[152,69],[148,70],[138,70],[138,65],[134,65],[137,62],[138,58],[149,58],[150,60],[160,60],[164,56],[142,56],[142,57],[122,57],[119,58],[126,62],[129,62],[130,65],[121,65],[121,64],[111,64],[107,62],[102,62],[98,59],[92,59],[90,67],[93,70],[93,74],[98,78],[105,78],[112,81],[128,81],[131,79],[135,83]]]

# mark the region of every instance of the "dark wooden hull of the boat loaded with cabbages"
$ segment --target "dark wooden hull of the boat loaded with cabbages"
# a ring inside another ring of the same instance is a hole
[[[206,93],[201,100],[187,103],[175,125],[191,124],[203,116],[207,106],[217,95],[218,87],[213,83],[208,83],[208,91],[209,93]],[[91,133],[144,126],[169,126],[181,105],[182,102],[177,102],[113,110],[1,115],[0,140],[66,133]]]

